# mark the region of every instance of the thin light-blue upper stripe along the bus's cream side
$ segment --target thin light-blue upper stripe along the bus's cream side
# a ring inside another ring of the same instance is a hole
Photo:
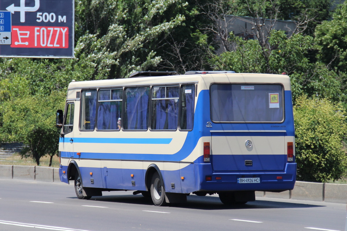
[[[69,143],[70,137],[60,139],[61,143]],[[74,143],[96,144],[170,144],[172,138],[73,138]]]

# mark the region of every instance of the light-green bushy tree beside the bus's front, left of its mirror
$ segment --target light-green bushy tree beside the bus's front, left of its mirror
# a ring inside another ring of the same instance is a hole
[[[1,138],[23,142],[22,156],[31,156],[40,165],[40,157],[58,154],[59,131],[55,127],[57,108],[64,107],[65,93],[27,96],[7,101],[1,107]]]

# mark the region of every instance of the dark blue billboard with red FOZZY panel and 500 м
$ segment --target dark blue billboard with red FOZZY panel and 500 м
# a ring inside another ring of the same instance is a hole
[[[73,58],[74,0],[0,0],[0,57]]]

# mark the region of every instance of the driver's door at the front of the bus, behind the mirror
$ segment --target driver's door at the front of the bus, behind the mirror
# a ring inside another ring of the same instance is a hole
[[[71,158],[74,156],[74,114],[75,101],[68,101],[65,107],[64,123],[60,137],[61,157]]]

